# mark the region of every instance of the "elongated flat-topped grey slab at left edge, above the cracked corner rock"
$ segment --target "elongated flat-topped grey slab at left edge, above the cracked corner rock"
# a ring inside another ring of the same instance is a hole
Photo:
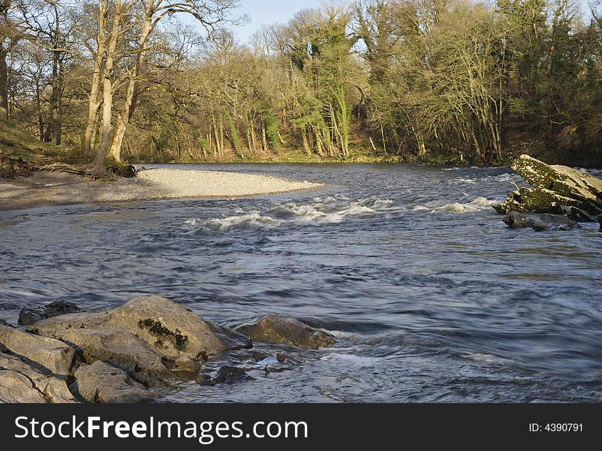
[[[12,355],[39,365],[45,371],[66,377],[69,374],[75,351],[57,339],[38,337],[0,326],[0,344]]]

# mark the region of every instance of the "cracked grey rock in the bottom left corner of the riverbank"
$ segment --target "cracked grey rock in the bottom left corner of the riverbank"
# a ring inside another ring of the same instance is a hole
[[[22,399],[17,402],[77,402],[63,379],[42,374],[36,368],[27,365],[27,363],[13,355],[0,352],[0,369],[2,370],[0,372],[0,387],[13,387],[16,390],[12,396],[0,393],[0,402],[7,398]],[[15,376],[14,373],[21,376]],[[29,380],[29,389],[23,390],[21,386],[21,381],[24,381],[23,377]],[[17,385],[14,386],[14,384]],[[38,391],[42,395],[43,401],[38,400],[38,395],[34,394],[31,389]]]

